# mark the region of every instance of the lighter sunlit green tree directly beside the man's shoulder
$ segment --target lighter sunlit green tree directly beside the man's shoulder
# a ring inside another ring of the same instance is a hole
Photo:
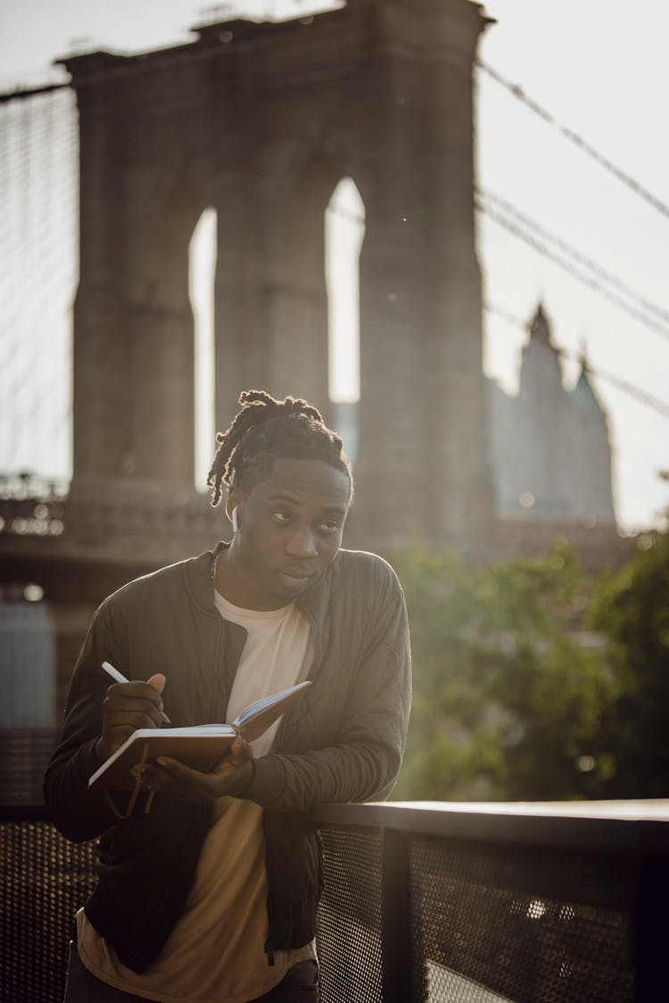
[[[414,696],[397,799],[597,794],[610,683],[574,637],[587,602],[575,555],[465,568],[419,547],[394,558],[411,623]]]

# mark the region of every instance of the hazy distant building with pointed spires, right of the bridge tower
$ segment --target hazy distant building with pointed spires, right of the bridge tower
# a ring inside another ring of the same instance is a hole
[[[572,390],[540,305],[523,352],[518,396],[488,381],[495,514],[504,520],[615,531],[607,417],[585,360]]]

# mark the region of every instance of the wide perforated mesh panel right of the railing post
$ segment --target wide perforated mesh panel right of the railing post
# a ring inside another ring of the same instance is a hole
[[[486,854],[414,838],[409,871],[412,971],[422,983],[414,999],[636,998],[631,882],[620,859],[498,846]]]

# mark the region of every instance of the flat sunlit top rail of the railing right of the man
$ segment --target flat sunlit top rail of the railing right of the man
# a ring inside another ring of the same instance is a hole
[[[564,849],[669,854],[669,800],[322,804],[323,824]]]

